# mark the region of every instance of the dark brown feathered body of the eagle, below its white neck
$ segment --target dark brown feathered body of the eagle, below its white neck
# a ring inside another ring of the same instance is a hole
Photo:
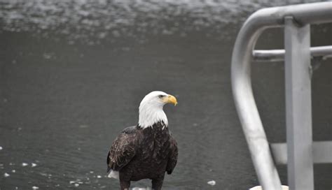
[[[113,141],[108,171],[119,172],[121,189],[129,189],[130,181],[141,179],[151,179],[152,189],[161,189],[165,172],[172,173],[177,156],[177,142],[164,122],[145,129],[131,126]]]

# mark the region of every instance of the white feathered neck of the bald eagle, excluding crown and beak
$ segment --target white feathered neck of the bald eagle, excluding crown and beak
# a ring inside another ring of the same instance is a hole
[[[142,129],[147,127],[153,127],[153,124],[163,122],[165,126],[168,126],[167,116],[162,110],[162,105],[156,106],[151,104],[139,106],[139,126]]]

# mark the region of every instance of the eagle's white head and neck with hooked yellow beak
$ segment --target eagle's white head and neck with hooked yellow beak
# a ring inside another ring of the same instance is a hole
[[[139,104],[139,126],[145,129],[161,121],[168,125],[166,114],[162,110],[166,103],[177,105],[177,98],[161,91],[147,94]]]

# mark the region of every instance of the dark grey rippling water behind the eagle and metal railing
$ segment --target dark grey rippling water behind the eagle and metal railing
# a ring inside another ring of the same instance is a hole
[[[179,101],[165,106],[179,162],[164,189],[257,185],[230,90],[233,44],[255,10],[303,2],[1,0],[0,189],[117,189],[106,154],[153,90]],[[331,45],[331,28],[312,26],[312,45]],[[257,48],[282,47],[272,29]],[[284,142],[284,66],[252,70],[268,139]],[[331,71],[329,59],[312,79],[314,140],[332,139]],[[331,189],[331,171],[314,166],[315,189]]]

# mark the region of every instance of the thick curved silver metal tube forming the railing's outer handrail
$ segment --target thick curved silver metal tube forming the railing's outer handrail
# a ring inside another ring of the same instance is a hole
[[[268,140],[251,88],[251,60],[261,33],[272,27],[283,27],[284,17],[296,23],[319,24],[332,21],[332,2],[263,8],[252,14],[240,29],[232,55],[231,80],[235,107],[249,145],[251,159],[264,190],[281,189],[281,183],[270,153]]]

